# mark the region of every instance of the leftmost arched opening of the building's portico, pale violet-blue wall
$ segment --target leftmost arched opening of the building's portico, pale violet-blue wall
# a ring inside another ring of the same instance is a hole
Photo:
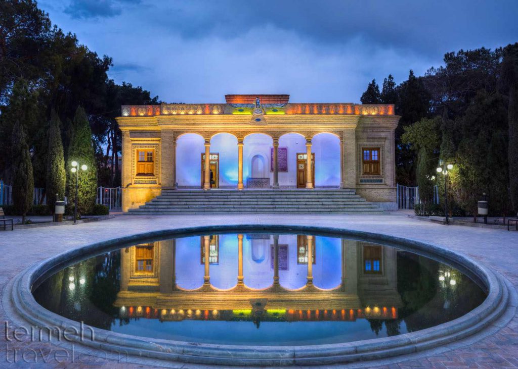
[[[178,188],[199,188],[202,181],[202,153],[205,139],[198,133],[182,133],[176,140]]]

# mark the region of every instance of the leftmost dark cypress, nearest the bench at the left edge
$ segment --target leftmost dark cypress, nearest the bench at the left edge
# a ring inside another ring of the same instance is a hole
[[[13,148],[13,176],[12,176],[12,201],[17,214],[22,216],[22,224],[25,224],[25,216],[33,205],[34,177],[31,162],[31,153],[27,145],[27,137],[20,120],[17,120],[12,130]]]

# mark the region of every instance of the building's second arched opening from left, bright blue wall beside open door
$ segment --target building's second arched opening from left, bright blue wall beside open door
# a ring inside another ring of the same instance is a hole
[[[219,187],[236,188],[238,182],[237,137],[220,132],[210,139],[210,152],[219,153]]]

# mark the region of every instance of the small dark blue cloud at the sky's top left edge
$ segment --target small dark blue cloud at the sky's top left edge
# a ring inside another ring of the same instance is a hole
[[[124,5],[140,0],[71,0],[64,12],[74,19],[111,18],[122,13]]]

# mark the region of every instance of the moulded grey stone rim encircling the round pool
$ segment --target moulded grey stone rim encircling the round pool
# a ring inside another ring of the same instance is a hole
[[[443,324],[416,332],[391,337],[354,341],[337,344],[305,346],[240,346],[215,345],[181,341],[151,339],[116,333],[100,328],[89,327],[94,331],[95,341],[81,341],[78,335],[70,334],[73,342],[92,348],[128,353],[128,355],[152,359],[180,361],[197,364],[220,365],[313,365],[334,364],[355,361],[384,359],[408,353],[437,348],[475,334],[490,326],[511,305],[508,286],[503,278],[492,270],[457,252],[446,250],[438,245],[408,238],[363,232],[346,228],[294,226],[294,225],[219,225],[199,226],[157,230],[130,236],[86,244],[55,255],[36,263],[13,280],[10,299],[16,312],[31,325],[45,327],[74,327],[79,330],[81,324],[52,313],[34,299],[31,289],[41,276],[50,270],[61,268],[74,260],[93,253],[103,253],[123,247],[142,239],[178,237],[200,233],[229,232],[301,232],[324,234],[329,236],[361,239],[393,247],[414,251],[421,255],[440,258],[445,262],[469,270],[485,286],[486,299],[469,313]]]

